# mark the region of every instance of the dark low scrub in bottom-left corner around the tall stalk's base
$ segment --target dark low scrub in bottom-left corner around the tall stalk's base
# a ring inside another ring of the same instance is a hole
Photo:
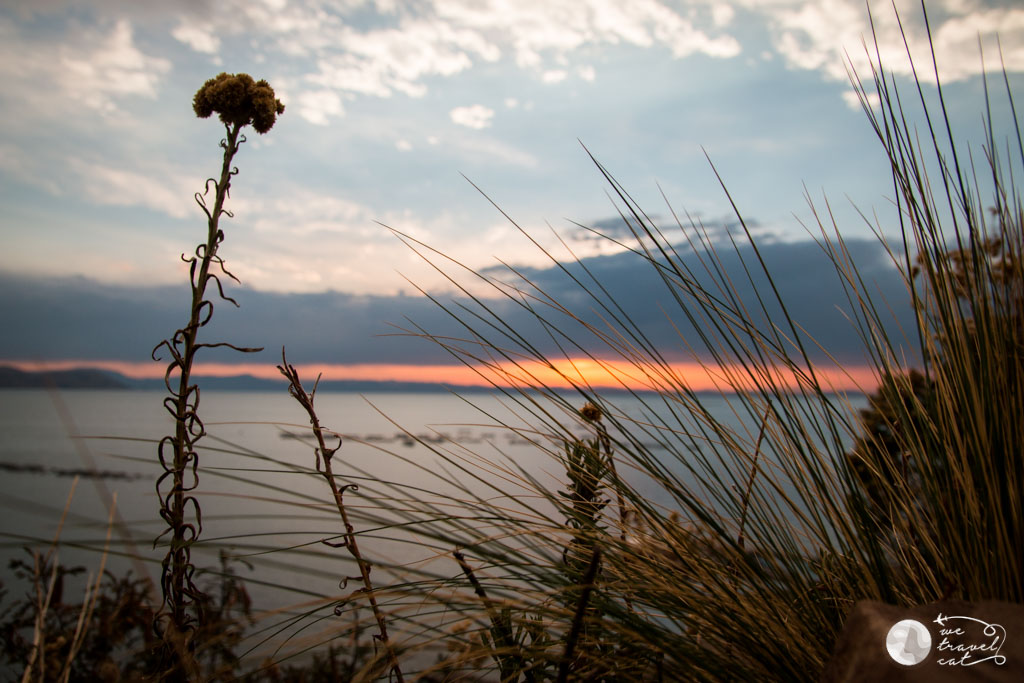
[[[162,644],[153,632],[148,578],[101,569],[82,586],[86,567],[66,566],[39,553],[30,556],[11,560],[16,583],[0,587],[0,671],[23,672],[20,680],[40,683],[141,681],[166,675]],[[242,671],[237,653],[253,624],[248,592],[223,556],[220,569],[209,574],[203,582],[207,621],[196,635],[203,643],[197,680],[338,681],[351,679],[365,666],[367,653],[354,629],[350,641],[334,644],[311,660]],[[23,596],[16,593],[18,585],[29,589]]]

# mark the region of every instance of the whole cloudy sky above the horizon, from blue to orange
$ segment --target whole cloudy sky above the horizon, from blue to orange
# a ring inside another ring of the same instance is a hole
[[[895,4],[930,66],[919,3]],[[872,11],[882,58],[909,88],[892,7]],[[993,68],[998,32],[1019,89],[1024,8],[928,11],[950,120],[977,139],[979,44]],[[451,297],[451,284],[397,230],[452,270],[504,262],[568,298],[551,257],[574,255],[682,364],[658,283],[586,229],[622,228],[593,155],[656,222],[689,215],[730,249],[731,197],[801,324],[854,369],[843,293],[810,280],[822,263],[807,196],[828,202],[907,323],[872,232],[895,233],[892,181],[849,82],[848,68],[868,73],[868,20],[859,0],[0,0],[0,362],[162,372],[150,352],[187,315],[179,255],[205,237],[191,197],[220,164],[223,128],[191,97],[245,72],[287,109],[236,158],[220,253],[242,307],[218,306],[212,336],[287,344],[334,379],[470,381],[443,349],[393,336],[458,327],[421,294]],[[507,305],[494,304],[528,326]],[[205,372],[276,360],[213,353]]]

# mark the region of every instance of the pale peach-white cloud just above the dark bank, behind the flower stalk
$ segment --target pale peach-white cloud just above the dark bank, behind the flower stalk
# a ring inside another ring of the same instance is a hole
[[[454,140],[451,147],[481,164],[496,159],[527,166],[534,163],[532,158],[494,140],[478,142]],[[103,236],[95,239],[116,241],[125,247],[117,255],[115,267],[111,256],[101,250],[88,251],[91,247],[84,238],[84,253],[77,253],[78,247],[61,240],[47,247],[51,258],[38,256],[38,249],[31,256],[18,258],[19,249],[29,249],[23,244],[39,239],[52,242],[52,238],[40,238],[28,230],[16,232],[23,230],[19,219],[10,218],[7,224],[13,234],[8,237],[16,236],[19,241],[5,263],[10,267],[26,267],[29,263],[27,267],[47,272],[94,272],[103,282],[126,282],[138,272],[144,272],[150,282],[167,283],[180,276],[177,254],[190,253],[202,237],[196,230],[204,224],[203,215],[191,199],[203,189],[199,170],[131,158],[116,161],[89,156],[58,161],[51,164],[47,157],[33,157],[0,144],[0,173],[4,176],[55,197],[105,207],[142,208],[174,220],[154,216],[140,225],[132,218],[127,223],[119,221],[114,213],[110,224],[90,222]],[[354,293],[392,293],[409,288],[404,276],[433,283],[436,273],[411,250],[403,249],[380,223],[428,242],[450,233],[453,226],[474,224],[465,213],[442,210],[424,216],[408,209],[376,209],[356,199],[286,180],[276,181],[269,190],[240,183],[232,187],[226,208],[234,217],[221,223],[228,238],[222,255],[243,282],[266,291],[340,288]],[[46,229],[57,229],[59,233],[72,229],[75,222],[65,219],[59,228]],[[507,236],[510,229],[503,224],[500,232]],[[80,236],[76,234],[76,239]],[[492,248],[492,243],[481,243],[477,232],[473,240],[458,241],[455,251],[464,261],[476,263],[488,253],[479,253],[481,244],[486,244],[487,250]]]

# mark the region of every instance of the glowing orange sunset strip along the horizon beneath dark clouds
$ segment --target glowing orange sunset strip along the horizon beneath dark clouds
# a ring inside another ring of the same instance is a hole
[[[14,361],[10,365],[27,372],[45,372],[94,368],[120,373],[133,379],[163,377],[166,366],[159,362],[130,362],[123,360],[43,360]],[[575,386],[593,388],[657,391],[668,387],[687,387],[692,391],[732,391],[751,389],[754,382],[741,367],[710,367],[699,362],[674,362],[664,367],[639,367],[624,360],[596,360],[575,358],[553,361],[552,365],[536,360],[521,362],[501,361],[476,366],[428,366],[397,364],[298,364],[296,369],[305,380],[317,375],[324,380],[350,380],[370,382],[418,382],[453,386],[503,386],[527,387],[543,385],[557,389]],[[846,368],[815,368],[823,387],[836,391],[872,391],[878,386],[873,369],[864,366]],[[270,364],[203,364],[197,362],[193,375],[202,377],[231,377],[250,375],[260,379],[282,379],[276,367]],[[799,382],[793,372],[775,369],[772,382],[785,389],[795,389]],[[282,379],[284,382],[284,380]],[[764,378],[761,380],[764,381]]]

